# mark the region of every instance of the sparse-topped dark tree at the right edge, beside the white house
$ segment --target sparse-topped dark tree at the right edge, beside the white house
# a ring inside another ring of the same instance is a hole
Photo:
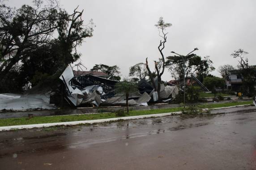
[[[239,58],[238,72],[242,75],[243,79],[243,92],[248,96],[255,94],[256,84],[256,66],[249,65],[248,58],[244,59],[244,55],[248,54],[243,49],[234,51],[231,54],[233,58]]]

